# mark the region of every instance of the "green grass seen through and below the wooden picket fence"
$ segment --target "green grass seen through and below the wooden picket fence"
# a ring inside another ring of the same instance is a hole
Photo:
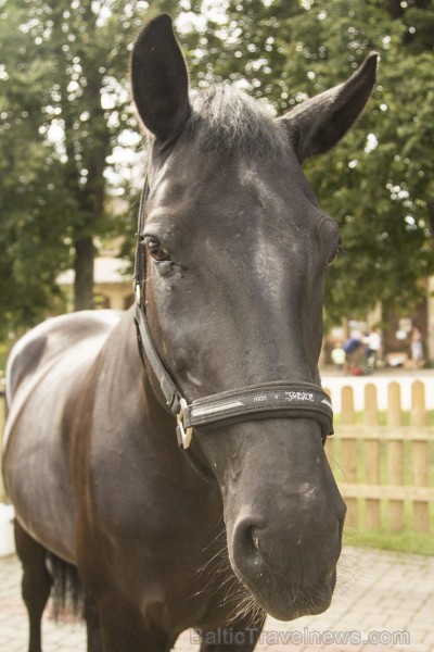
[[[356,423],[362,423],[362,413],[356,414]],[[386,423],[386,413],[379,413],[379,423]],[[409,425],[410,414],[403,413],[403,425]],[[426,424],[434,426],[434,411],[426,413]],[[339,439],[340,415],[335,417],[336,440],[333,448],[332,469],[337,484],[347,481],[345,478],[345,468],[342,466],[341,441]],[[357,443],[356,456],[357,482],[365,484],[363,450],[362,441]],[[380,442],[380,481],[387,484],[387,447],[385,441]],[[411,442],[404,442],[404,484],[411,485]],[[429,442],[429,485],[434,486],[434,442]],[[359,546],[366,548],[378,548],[383,550],[394,550],[398,552],[410,552],[416,554],[434,555],[434,505],[429,506],[430,513],[430,532],[416,532],[412,526],[412,504],[410,501],[404,503],[404,529],[401,531],[392,531],[387,527],[388,522],[388,501],[380,501],[380,514],[382,527],[376,530],[366,528],[366,502],[357,500],[357,528],[350,524],[345,526],[344,544]]]

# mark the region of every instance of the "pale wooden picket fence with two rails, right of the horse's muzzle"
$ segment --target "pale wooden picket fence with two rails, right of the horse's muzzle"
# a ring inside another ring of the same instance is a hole
[[[412,531],[430,531],[430,506],[434,502],[434,487],[430,485],[430,455],[434,444],[434,427],[426,424],[424,385],[411,387],[410,425],[403,425],[400,386],[387,387],[387,425],[379,425],[376,388],[365,388],[363,425],[355,425],[353,389],[342,390],[342,424],[335,446],[341,443],[340,490],[348,506],[348,524],[357,526],[357,506],[365,503],[365,526],[368,530],[382,526],[382,502],[387,501],[391,531],[406,526],[406,504],[412,504]],[[361,450],[360,450],[360,448]],[[405,465],[407,447],[411,453],[411,479]],[[383,450],[384,448],[384,450]],[[387,475],[382,477],[383,453],[386,453]],[[363,465],[363,477],[357,477],[357,461]],[[383,482],[381,482],[383,480]]]

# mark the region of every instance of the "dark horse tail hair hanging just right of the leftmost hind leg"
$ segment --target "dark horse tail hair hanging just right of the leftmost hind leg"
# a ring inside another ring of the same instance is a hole
[[[60,619],[82,619],[85,615],[85,587],[73,564],[47,551],[47,565],[52,577],[52,617]]]

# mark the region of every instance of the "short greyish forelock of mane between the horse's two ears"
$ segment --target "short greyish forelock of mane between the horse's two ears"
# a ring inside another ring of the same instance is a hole
[[[194,138],[203,150],[276,155],[286,147],[271,105],[233,86],[212,86],[195,93],[191,102],[184,136]]]

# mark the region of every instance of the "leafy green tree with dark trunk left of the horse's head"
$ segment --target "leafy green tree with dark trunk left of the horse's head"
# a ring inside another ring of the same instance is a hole
[[[33,324],[50,308],[55,277],[69,264],[76,308],[92,308],[94,238],[114,228],[105,204],[115,172],[110,156],[138,131],[126,91],[128,50],[148,3],[3,0],[0,7],[4,331]]]

